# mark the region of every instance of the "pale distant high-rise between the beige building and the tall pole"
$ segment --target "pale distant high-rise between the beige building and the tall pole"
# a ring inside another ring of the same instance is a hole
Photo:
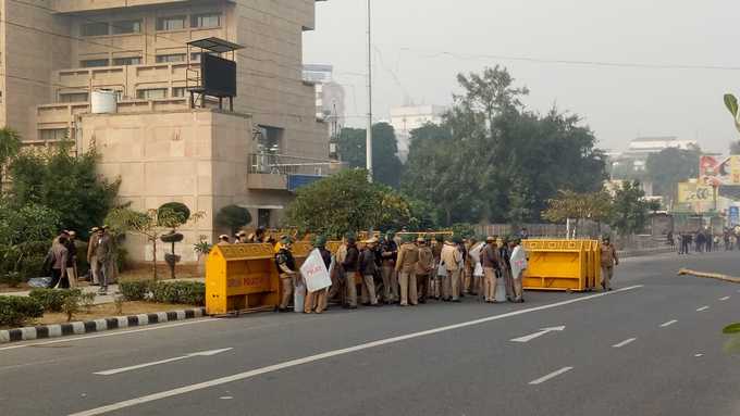
[[[334,81],[332,65],[304,66],[304,81],[316,85],[316,116],[329,125],[329,137],[335,137],[345,125],[344,87]]]

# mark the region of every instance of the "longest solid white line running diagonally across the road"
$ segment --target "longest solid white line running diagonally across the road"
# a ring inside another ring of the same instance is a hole
[[[229,382],[245,380],[245,379],[252,378],[252,377],[260,376],[260,375],[268,374],[268,373],[279,371],[281,369],[291,368],[291,367],[299,366],[299,365],[303,365],[303,364],[308,364],[308,363],[313,363],[313,362],[321,361],[321,360],[331,358],[331,357],[334,357],[334,356],[337,356],[337,355],[345,355],[345,354],[349,354],[349,353],[357,352],[357,351],[368,350],[368,349],[372,349],[372,348],[381,346],[381,345],[387,345],[387,344],[392,344],[392,343],[396,343],[396,342],[400,342],[400,341],[406,341],[406,340],[414,339],[414,338],[430,336],[430,335],[433,335],[433,333],[445,332],[445,331],[449,331],[449,330],[453,330],[453,329],[466,328],[466,327],[470,327],[470,326],[473,326],[473,325],[480,325],[480,324],[484,324],[484,323],[489,323],[489,322],[493,322],[493,320],[508,318],[508,317],[511,317],[511,316],[519,316],[519,315],[523,315],[523,314],[528,314],[528,313],[532,313],[532,312],[538,312],[538,311],[546,311],[546,310],[551,310],[551,308],[554,308],[554,307],[565,306],[565,305],[569,305],[569,304],[578,303],[578,302],[584,302],[584,301],[588,301],[588,300],[591,300],[591,299],[596,299],[596,298],[601,298],[601,297],[605,297],[605,295],[609,295],[609,294],[616,294],[616,293],[625,292],[625,291],[628,291],[628,290],[639,289],[639,288],[642,288],[642,287],[643,287],[643,285],[630,286],[628,288],[617,289],[617,290],[612,291],[612,292],[601,292],[601,293],[591,294],[591,295],[583,297],[583,298],[577,298],[577,299],[571,299],[571,300],[568,300],[568,301],[551,303],[551,304],[536,306],[536,307],[530,307],[530,308],[527,308],[527,310],[514,311],[514,312],[508,312],[508,313],[501,314],[501,315],[489,316],[486,318],[469,320],[469,322],[461,323],[461,324],[448,325],[448,326],[445,326],[445,327],[428,329],[428,330],[424,330],[424,331],[408,333],[408,335],[405,335],[405,336],[386,338],[386,339],[383,339],[383,340],[372,341],[372,342],[368,342],[368,343],[363,343],[363,344],[359,344],[359,345],[355,345],[355,346],[349,346],[349,348],[345,348],[345,349],[341,349],[341,350],[328,351],[328,352],[324,352],[324,353],[310,355],[310,356],[303,357],[303,358],[291,360],[291,361],[286,361],[286,362],[283,362],[283,363],[273,364],[273,365],[270,365],[270,366],[267,366],[267,367],[256,368],[256,369],[251,369],[251,370],[244,371],[244,373],[238,373],[238,374],[235,374],[235,375],[232,375],[232,376],[221,377],[221,378],[217,378],[217,379],[213,379],[213,380],[198,382],[198,383],[195,383],[195,385],[183,386],[183,387],[180,387],[180,388],[176,388],[176,389],[160,391],[159,393],[153,393],[153,394],[144,395],[144,396],[140,396],[140,398],[124,400],[124,401],[118,402],[118,403],[111,403],[111,404],[108,404],[108,405],[104,405],[104,406],[101,406],[101,407],[96,407],[96,408],[91,408],[91,409],[88,409],[88,411],[73,413],[73,414],[70,414],[70,416],[102,415],[102,414],[106,414],[106,413],[109,413],[109,412],[114,412],[114,411],[119,411],[119,409],[122,409],[122,408],[136,406],[136,405],[139,405],[139,404],[153,402],[153,401],[157,401],[157,400],[172,398],[172,396],[175,396],[175,395],[181,395],[181,394],[189,393],[189,392],[193,392],[193,391],[208,389],[208,388],[211,388],[211,387],[214,387],[214,386],[221,386],[221,385],[225,385],[225,383],[229,383]]]

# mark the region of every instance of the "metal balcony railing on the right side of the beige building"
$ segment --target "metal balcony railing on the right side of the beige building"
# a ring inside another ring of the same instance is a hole
[[[249,173],[269,175],[329,176],[342,167],[341,162],[274,153],[249,153]]]

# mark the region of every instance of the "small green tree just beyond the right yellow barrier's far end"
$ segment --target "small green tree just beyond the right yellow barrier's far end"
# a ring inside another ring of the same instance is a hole
[[[642,232],[648,224],[652,204],[639,181],[624,181],[615,190],[610,226],[621,236]]]

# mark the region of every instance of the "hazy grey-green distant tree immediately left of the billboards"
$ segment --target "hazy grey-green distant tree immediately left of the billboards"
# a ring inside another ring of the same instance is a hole
[[[664,149],[648,156],[645,179],[653,182],[653,193],[676,199],[679,182],[699,177],[699,159],[702,151],[691,149]]]

